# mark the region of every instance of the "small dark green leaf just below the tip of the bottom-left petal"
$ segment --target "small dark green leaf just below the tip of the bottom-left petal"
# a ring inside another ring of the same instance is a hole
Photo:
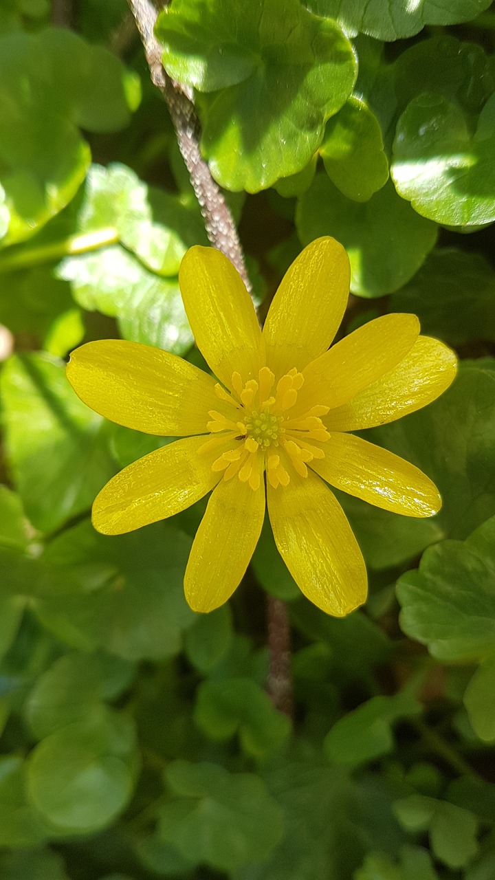
[[[232,613],[222,605],[210,614],[198,614],[186,633],[186,656],[200,672],[210,672],[230,649],[233,641]]]

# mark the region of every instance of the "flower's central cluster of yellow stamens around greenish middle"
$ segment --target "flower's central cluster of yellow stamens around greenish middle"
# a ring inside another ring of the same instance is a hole
[[[297,407],[298,392],[304,377],[294,367],[278,380],[268,367],[262,367],[257,379],[245,384],[240,374],[232,377],[233,394],[222,385],[215,385],[220,400],[229,405],[228,415],[211,409],[207,429],[217,435],[206,441],[207,446],[224,446],[227,450],[213,462],[213,471],[224,471],[224,480],[238,476],[256,490],[266,471],[270,486],[287,486],[291,469],[307,477],[307,462],[325,458],[316,440],[323,443],[329,433],[321,422],[321,415],[329,407],[315,406],[307,412]],[[313,441],[313,443],[309,442]]]

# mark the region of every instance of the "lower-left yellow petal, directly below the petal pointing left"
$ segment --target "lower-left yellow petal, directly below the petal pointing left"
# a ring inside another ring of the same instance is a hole
[[[172,517],[199,501],[218,483],[211,465],[228,448],[200,452],[204,437],[186,437],[124,467],[101,489],[92,505],[92,524],[105,535],[134,532]]]

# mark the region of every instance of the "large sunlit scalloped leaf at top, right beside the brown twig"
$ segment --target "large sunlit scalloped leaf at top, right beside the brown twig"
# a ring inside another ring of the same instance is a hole
[[[157,33],[168,73],[203,92],[202,150],[228,189],[255,193],[307,165],[356,77],[340,28],[297,0],[174,0]]]

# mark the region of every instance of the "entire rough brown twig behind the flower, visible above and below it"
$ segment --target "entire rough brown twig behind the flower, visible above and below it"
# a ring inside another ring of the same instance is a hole
[[[163,5],[165,4],[162,3]],[[151,0],[129,0],[129,6],[141,35],[151,82],[162,93],[172,117],[179,149],[201,207],[208,238],[214,247],[231,260],[250,291],[251,284],[233,216],[201,156],[201,128],[192,90],[175,83],[164,70],[161,62],[162,48],[154,34],[158,17],[155,5]],[[287,608],[281,599],[272,596],[268,597],[267,602],[270,650],[268,692],[273,705],[292,717],[291,629]]]

